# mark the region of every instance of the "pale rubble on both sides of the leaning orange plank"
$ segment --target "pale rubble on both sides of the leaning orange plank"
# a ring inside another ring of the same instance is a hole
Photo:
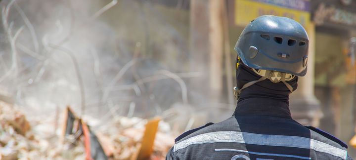
[[[115,127],[107,129],[105,132],[99,132],[97,136],[108,151],[112,151],[114,159],[129,160],[137,154],[142,136],[144,133],[144,124],[147,120],[139,118],[120,118],[115,121]],[[115,134],[116,133],[116,134]],[[152,160],[164,160],[168,150],[174,145],[174,136],[170,134],[168,123],[161,121],[154,139],[154,149],[151,156]],[[107,154],[110,155],[110,154]]]

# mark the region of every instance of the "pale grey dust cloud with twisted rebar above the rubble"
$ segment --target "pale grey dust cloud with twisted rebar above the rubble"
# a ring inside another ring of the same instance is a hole
[[[190,103],[188,81],[202,75],[188,64],[187,4],[2,0],[0,98],[30,118],[54,117],[70,105],[96,125],[163,116],[189,129],[213,119],[202,111],[216,104],[204,97],[200,106]]]

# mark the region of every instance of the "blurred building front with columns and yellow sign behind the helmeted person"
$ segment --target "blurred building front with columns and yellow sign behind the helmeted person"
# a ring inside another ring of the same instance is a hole
[[[310,54],[307,76],[300,78],[297,91],[291,94],[292,116],[344,141],[354,135],[356,68],[352,46],[356,42],[352,44],[351,39],[356,37],[355,0],[153,1],[176,8],[183,4],[189,12],[189,67],[203,75],[190,80],[190,87],[199,90],[200,96],[229,104],[236,102],[230,99],[235,71],[229,66],[235,63],[233,47],[243,28],[261,15],[298,21],[308,32]],[[194,94],[189,98],[194,104]]]

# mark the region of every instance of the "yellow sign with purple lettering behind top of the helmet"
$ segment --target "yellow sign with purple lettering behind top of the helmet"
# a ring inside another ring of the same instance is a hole
[[[283,16],[294,19],[304,28],[310,25],[310,13],[252,0],[235,0],[235,24],[246,26],[250,21],[262,15]]]

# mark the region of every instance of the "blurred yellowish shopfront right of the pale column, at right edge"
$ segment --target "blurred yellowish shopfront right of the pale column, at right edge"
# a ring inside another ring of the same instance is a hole
[[[348,142],[355,127],[355,0],[311,0],[315,24],[315,94],[320,128]]]

